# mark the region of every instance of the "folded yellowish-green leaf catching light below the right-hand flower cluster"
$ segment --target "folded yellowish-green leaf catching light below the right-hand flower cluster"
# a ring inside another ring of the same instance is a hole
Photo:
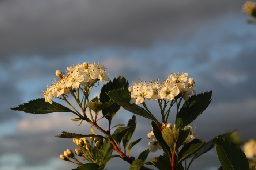
[[[172,151],[176,151],[186,140],[190,132],[190,129],[186,130],[172,130],[170,128],[165,128],[162,131],[162,136],[167,145]],[[160,144],[160,143],[159,143]]]

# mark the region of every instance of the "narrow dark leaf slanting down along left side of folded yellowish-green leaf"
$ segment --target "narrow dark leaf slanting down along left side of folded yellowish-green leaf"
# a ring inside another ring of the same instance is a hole
[[[153,133],[155,135],[155,138],[157,138],[157,141],[159,143],[159,145],[162,147],[163,151],[166,153],[166,155],[169,158],[172,158],[172,154],[171,154],[171,149],[170,147],[167,145],[167,143],[165,142],[165,140],[163,139],[162,133],[159,130],[157,124],[153,121],[151,122],[151,127],[153,130]],[[168,128],[169,129],[169,128]]]

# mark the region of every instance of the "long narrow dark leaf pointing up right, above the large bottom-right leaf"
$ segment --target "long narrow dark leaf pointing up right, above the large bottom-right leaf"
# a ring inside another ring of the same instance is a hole
[[[236,130],[234,130],[236,131]],[[201,155],[207,153],[208,151],[210,151],[214,145],[216,144],[216,140],[217,138],[220,139],[224,139],[226,138],[228,135],[231,135],[232,133],[234,133],[234,131],[222,134],[222,135],[218,135],[217,137],[213,138],[211,141],[207,142],[206,145],[204,146],[204,148],[202,150],[199,151],[199,153],[195,154],[195,156],[191,159],[189,165],[191,165],[191,163],[198,157],[200,157]]]

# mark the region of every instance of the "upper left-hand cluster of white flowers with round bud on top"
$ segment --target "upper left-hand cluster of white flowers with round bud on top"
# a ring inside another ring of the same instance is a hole
[[[59,97],[63,94],[69,94],[70,91],[80,88],[80,86],[91,87],[98,80],[101,82],[109,81],[110,78],[106,74],[106,68],[103,65],[94,63],[76,64],[70,66],[66,70],[66,74],[60,70],[56,70],[55,75],[59,78],[57,81],[47,87],[44,92],[45,102],[52,104],[52,98]]]

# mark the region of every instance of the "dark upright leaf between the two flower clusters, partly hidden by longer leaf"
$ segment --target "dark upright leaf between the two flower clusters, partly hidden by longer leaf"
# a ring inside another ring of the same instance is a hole
[[[126,81],[126,79],[121,75],[117,79],[114,78],[113,82],[111,80],[107,83],[104,84],[104,86],[101,88],[101,93],[99,95],[99,99],[102,103],[108,102],[110,100],[109,96],[106,94],[109,91],[112,91],[114,89],[120,89],[120,88],[125,88],[128,89],[129,83]],[[116,115],[117,111],[120,109],[120,106],[117,103],[113,103],[111,106],[106,107],[102,109],[102,114],[107,115],[106,119],[111,121],[113,117]]]

